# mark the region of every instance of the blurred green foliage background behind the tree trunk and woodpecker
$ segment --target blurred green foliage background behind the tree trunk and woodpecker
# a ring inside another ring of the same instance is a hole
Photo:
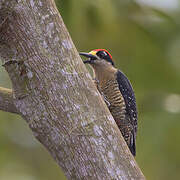
[[[136,160],[147,179],[180,179],[180,6],[138,2],[56,0],[78,51],[109,50],[132,82],[139,110]],[[2,68],[0,85],[10,87]],[[65,179],[27,124],[5,112],[0,179]]]

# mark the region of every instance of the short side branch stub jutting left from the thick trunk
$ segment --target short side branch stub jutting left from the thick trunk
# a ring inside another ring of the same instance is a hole
[[[0,110],[18,113],[12,96],[12,90],[0,87]]]

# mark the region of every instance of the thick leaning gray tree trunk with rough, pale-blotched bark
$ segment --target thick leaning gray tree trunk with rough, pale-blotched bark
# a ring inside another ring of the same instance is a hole
[[[16,112],[68,179],[145,179],[53,0],[0,0],[0,58]]]

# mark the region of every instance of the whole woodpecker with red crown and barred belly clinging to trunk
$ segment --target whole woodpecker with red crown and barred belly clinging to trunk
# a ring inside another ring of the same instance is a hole
[[[95,49],[80,55],[93,69],[93,79],[103,96],[119,130],[133,156],[136,155],[137,108],[130,81],[116,69],[111,54],[105,49]]]

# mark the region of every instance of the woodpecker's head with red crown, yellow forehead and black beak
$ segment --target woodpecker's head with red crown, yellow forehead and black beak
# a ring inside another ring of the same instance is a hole
[[[81,52],[79,54],[87,57],[88,59],[84,63],[88,63],[93,67],[97,65],[114,66],[111,54],[105,49],[94,49],[89,53]]]

